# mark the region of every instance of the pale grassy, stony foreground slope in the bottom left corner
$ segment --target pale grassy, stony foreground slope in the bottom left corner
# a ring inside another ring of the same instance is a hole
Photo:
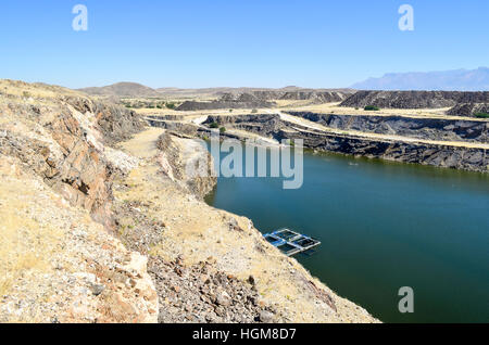
[[[0,322],[155,322],[147,259],[0,154]]]

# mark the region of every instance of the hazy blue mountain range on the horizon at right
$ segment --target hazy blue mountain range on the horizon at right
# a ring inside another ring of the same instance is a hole
[[[489,68],[389,73],[351,86],[356,90],[488,91]]]

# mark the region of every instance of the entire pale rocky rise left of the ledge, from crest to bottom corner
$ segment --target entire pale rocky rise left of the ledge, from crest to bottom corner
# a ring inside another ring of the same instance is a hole
[[[113,176],[137,165],[109,144],[139,117],[58,87],[0,90],[0,320],[155,322],[146,258],[109,233]]]

